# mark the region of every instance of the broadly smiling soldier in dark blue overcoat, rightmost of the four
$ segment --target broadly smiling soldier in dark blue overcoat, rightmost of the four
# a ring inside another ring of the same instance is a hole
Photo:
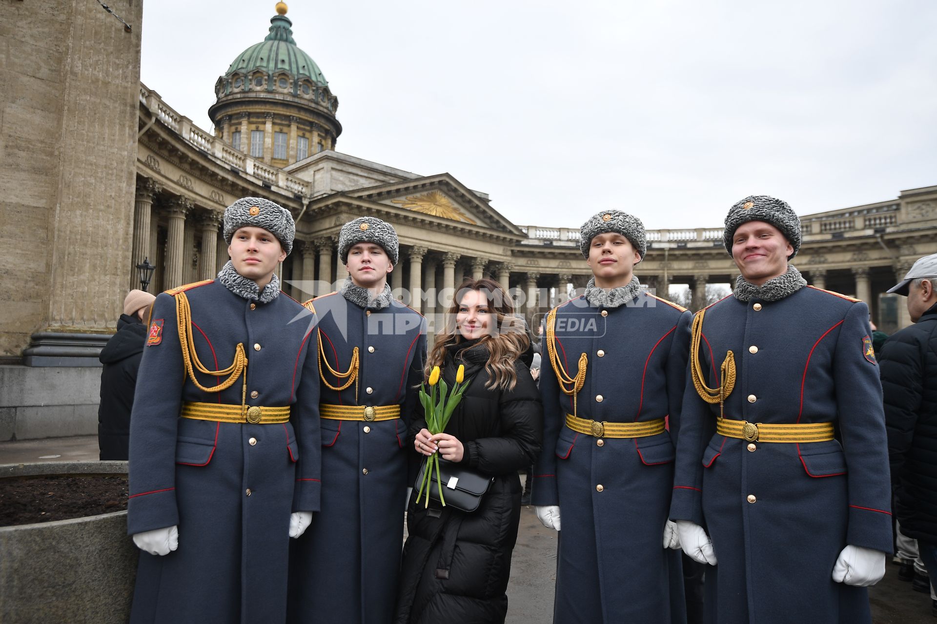
[[[780,199],[737,202],[724,244],[741,277],[694,318],[671,504],[684,551],[716,565],[706,621],[870,622],[892,533],[869,309],[788,264]]]

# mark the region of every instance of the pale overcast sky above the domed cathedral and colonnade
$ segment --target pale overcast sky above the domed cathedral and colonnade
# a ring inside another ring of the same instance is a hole
[[[937,184],[937,3],[290,2],[339,152],[447,171],[518,225],[721,225]],[[205,130],[275,2],[146,0],[141,80]]]

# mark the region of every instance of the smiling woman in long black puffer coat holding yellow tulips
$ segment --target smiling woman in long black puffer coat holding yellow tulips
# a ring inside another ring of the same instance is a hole
[[[419,457],[459,462],[494,482],[478,509],[465,513],[430,500],[409,501],[409,537],[400,574],[397,624],[503,622],[505,590],[521,511],[519,470],[540,452],[543,406],[530,375],[533,352],[511,299],[492,280],[459,286],[429,354],[452,386],[459,365],[470,382],[445,432],[431,435],[422,408],[409,430]]]

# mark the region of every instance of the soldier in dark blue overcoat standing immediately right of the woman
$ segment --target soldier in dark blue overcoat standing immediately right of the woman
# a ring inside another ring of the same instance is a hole
[[[541,349],[532,502],[544,526],[562,529],[554,621],[683,622],[667,516],[691,314],[634,277],[647,249],[639,219],[600,212],[581,240],[593,277],[547,315]]]

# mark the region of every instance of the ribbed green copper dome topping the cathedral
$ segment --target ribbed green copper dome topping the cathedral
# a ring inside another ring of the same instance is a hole
[[[249,75],[260,70],[268,76],[289,74],[295,79],[294,83],[308,79],[313,85],[320,87],[328,85],[329,82],[322,76],[319,65],[316,65],[308,54],[296,46],[290,29],[292,26],[290,18],[285,15],[275,15],[270,19],[270,24],[270,34],[260,43],[238,54],[228,67],[228,71],[225,72],[224,78],[231,78],[231,75],[235,73]],[[272,82],[271,80],[271,90]],[[232,86],[234,86],[232,91],[241,91],[245,89],[246,84],[243,87],[242,85]]]

